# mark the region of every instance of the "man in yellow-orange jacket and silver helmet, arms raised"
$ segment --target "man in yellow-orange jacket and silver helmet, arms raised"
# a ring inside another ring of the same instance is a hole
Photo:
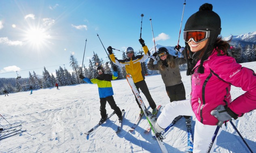
[[[152,108],[152,114],[156,114],[157,113],[157,105],[149,93],[148,86],[144,80],[145,76],[144,76],[144,74],[142,74],[142,67],[141,67],[141,63],[145,62],[146,59],[148,59],[148,57],[150,56],[150,52],[148,51],[148,47],[145,45],[144,40],[142,38],[140,38],[139,41],[144,50],[144,55],[134,56],[133,48],[128,47],[126,49],[126,55],[128,58],[125,58],[124,60],[118,60],[117,58],[115,58],[115,56],[112,52],[111,46],[108,47],[108,52],[110,54],[110,59],[114,62],[114,64],[116,64],[117,66],[125,67],[127,74],[128,73],[131,74],[135,86],[137,87],[138,90],[140,89],[142,91],[142,93],[144,93],[146,99],[148,100],[148,103],[149,103],[150,107]],[[140,113],[143,114],[140,103],[137,100],[136,96],[135,96],[135,99],[139,105]]]

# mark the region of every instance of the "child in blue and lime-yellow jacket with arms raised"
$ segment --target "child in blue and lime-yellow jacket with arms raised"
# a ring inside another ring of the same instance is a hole
[[[102,66],[98,66],[96,68],[98,76],[94,79],[89,79],[82,74],[79,75],[79,78],[83,81],[90,83],[90,84],[97,84],[99,89],[99,102],[100,102],[100,115],[101,119],[99,123],[103,123],[107,119],[107,111],[106,111],[106,103],[110,105],[111,109],[116,112],[118,116],[119,122],[122,120],[122,112],[120,108],[116,105],[114,101],[114,92],[111,84],[111,80],[115,80],[118,78],[117,68],[114,66],[114,74],[105,74]]]

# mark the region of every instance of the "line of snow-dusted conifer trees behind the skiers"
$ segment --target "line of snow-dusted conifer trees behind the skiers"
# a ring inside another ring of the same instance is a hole
[[[134,54],[136,56],[138,54],[143,54],[143,52],[135,52]],[[234,48],[228,50],[228,55],[233,56],[237,63],[254,62],[256,61],[256,45],[248,45],[245,48],[243,48],[240,44],[234,45]],[[127,56],[125,52],[123,52],[122,59],[125,58],[127,58]],[[0,78],[0,95],[4,94],[4,90],[6,90],[8,93],[29,91],[30,86],[36,90],[55,87],[55,83],[58,83],[59,86],[85,83],[79,79],[79,74],[83,74],[83,76],[89,79],[93,79],[97,77],[97,66],[102,66],[105,73],[112,74],[111,62],[103,62],[103,60],[100,59],[95,52],[93,52],[92,58],[89,59],[89,66],[85,67],[85,65],[83,65],[83,68],[79,66],[78,61],[74,55],[70,55],[70,67],[72,68],[72,72],[69,72],[65,66],[64,68],[59,66],[59,68],[55,70],[56,75],[53,75],[53,73],[50,74],[49,71],[44,67],[41,78],[38,77],[34,71],[32,73],[29,71],[29,78]],[[180,65],[180,71],[184,71],[186,68],[186,64]],[[148,70],[146,62],[143,62],[142,73],[146,75],[153,75],[159,74],[159,71]],[[125,78],[125,68],[118,67],[118,79]]]

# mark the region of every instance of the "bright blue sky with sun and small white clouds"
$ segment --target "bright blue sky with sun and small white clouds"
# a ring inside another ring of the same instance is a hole
[[[222,37],[256,31],[254,0],[186,0],[182,31],[186,20],[205,2],[221,18]],[[93,51],[107,60],[105,48],[140,50],[142,38],[148,48],[156,44],[178,43],[184,0],[1,0],[0,1],[0,77],[28,77],[33,70],[42,75],[70,68],[70,55],[88,66]],[[144,17],[141,17],[144,14]],[[99,37],[97,37],[99,34]],[[184,45],[180,36],[180,45]],[[115,52],[121,59],[122,52]]]

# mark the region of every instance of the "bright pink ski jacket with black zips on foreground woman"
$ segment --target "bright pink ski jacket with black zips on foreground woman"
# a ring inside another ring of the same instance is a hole
[[[216,125],[218,119],[210,113],[218,105],[227,105],[238,117],[256,109],[256,74],[242,67],[230,56],[218,56],[214,50],[203,62],[204,73],[197,72],[197,62],[191,76],[190,103],[197,120],[206,125]],[[231,85],[246,91],[232,101]]]

